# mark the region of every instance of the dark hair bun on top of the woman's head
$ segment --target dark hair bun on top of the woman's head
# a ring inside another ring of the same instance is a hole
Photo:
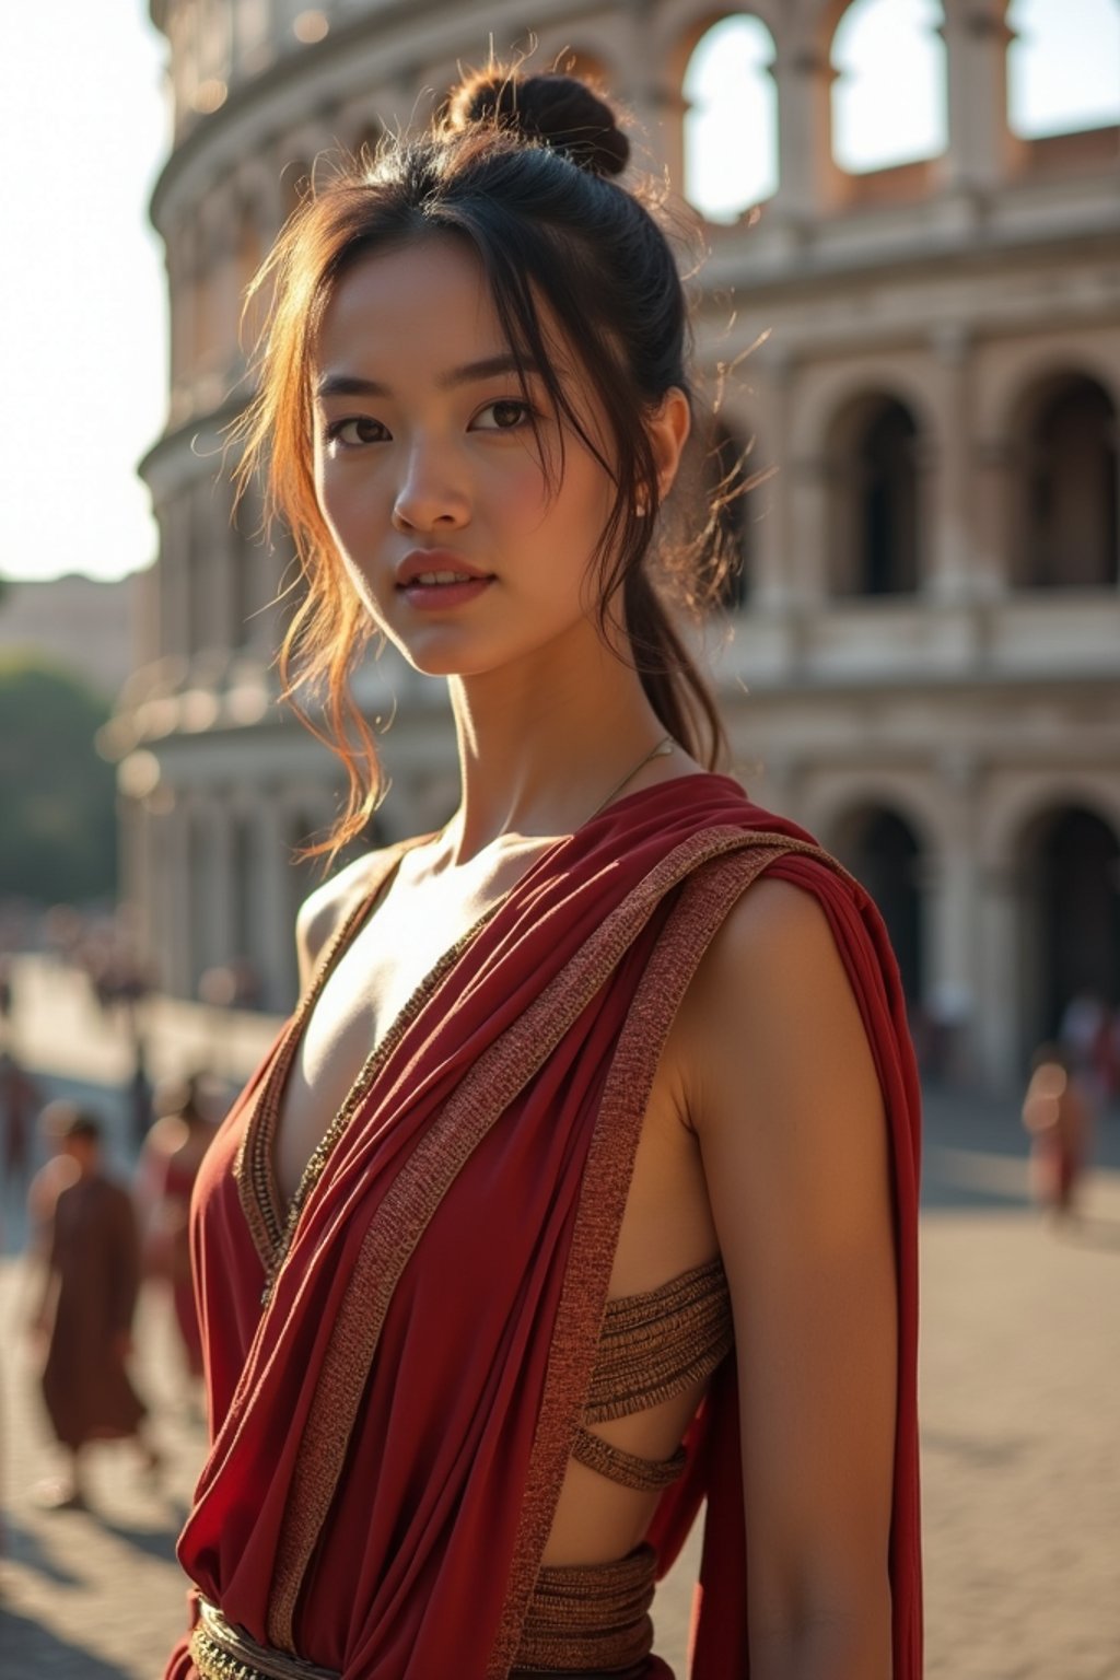
[[[610,104],[574,76],[475,71],[452,91],[447,129],[474,123],[551,146],[593,175],[621,175],[630,163],[630,141]]]

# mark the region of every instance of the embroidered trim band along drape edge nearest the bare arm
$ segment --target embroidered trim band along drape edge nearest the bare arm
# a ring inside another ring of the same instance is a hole
[[[724,825],[692,835],[663,860],[677,880],[688,879],[635,991],[599,1104],[487,1680],[504,1680],[517,1662],[521,1630],[586,1408],[638,1136],[668,1030],[732,904],[771,864],[791,853],[811,857],[851,880],[835,858],[804,840]],[[663,879],[660,867],[646,880],[653,877]]]

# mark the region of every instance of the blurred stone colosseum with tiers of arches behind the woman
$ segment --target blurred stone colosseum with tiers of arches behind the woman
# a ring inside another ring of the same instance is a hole
[[[1120,87],[1088,123],[1024,131],[1016,76],[1053,8],[915,0],[929,143],[858,168],[838,116],[853,87],[875,97],[858,47],[882,7],[153,0],[171,366],[143,464],[148,645],[113,738],[128,895],[168,990],[240,959],[264,1006],[290,1005],[309,885],[292,853],[339,791],[274,704],[292,580],[254,507],[233,512],[223,460],[243,289],[314,168],[423,121],[492,44],[594,74],[704,235],[697,346],[724,445],[774,469],[709,637],[735,768],[877,894],[929,1070],[1007,1089],[1073,998],[1120,1003]],[[1120,7],[1086,8],[1120,62]],[[724,143],[730,202],[712,208],[697,153],[729,24],[751,47],[744,136],[772,144],[759,171],[744,138],[737,176]],[[386,660],[359,697],[395,714],[379,832],[442,822],[442,689]]]

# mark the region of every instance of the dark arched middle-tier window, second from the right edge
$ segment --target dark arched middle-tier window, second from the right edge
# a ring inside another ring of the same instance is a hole
[[[831,580],[838,595],[910,595],[919,586],[919,428],[895,396],[860,398],[830,450]]]

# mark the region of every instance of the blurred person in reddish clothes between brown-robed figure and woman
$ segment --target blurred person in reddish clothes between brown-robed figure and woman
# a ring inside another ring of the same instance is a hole
[[[144,1275],[168,1285],[190,1378],[201,1378],[201,1336],[190,1263],[190,1198],[217,1126],[200,1075],[158,1085],[160,1116],[136,1169]]]

